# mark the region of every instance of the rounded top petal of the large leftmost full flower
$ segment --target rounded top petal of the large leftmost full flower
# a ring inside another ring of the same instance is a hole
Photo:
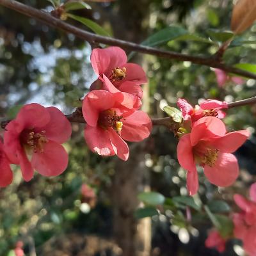
[[[24,127],[43,127],[50,122],[50,115],[40,104],[31,103],[20,109],[16,120]]]

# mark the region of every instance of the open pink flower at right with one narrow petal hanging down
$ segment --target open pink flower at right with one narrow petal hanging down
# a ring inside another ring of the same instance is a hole
[[[205,116],[193,124],[191,133],[180,138],[177,156],[188,171],[189,195],[198,190],[196,164],[204,168],[207,179],[216,186],[230,186],[239,173],[235,152],[248,138],[246,130],[226,133],[225,124],[214,116]]]

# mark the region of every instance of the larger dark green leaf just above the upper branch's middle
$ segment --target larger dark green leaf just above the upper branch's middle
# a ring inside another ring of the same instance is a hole
[[[180,26],[170,26],[168,28],[161,29],[157,33],[150,35],[142,45],[156,46],[165,44],[170,40],[178,38],[179,36],[188,34],[188,31]]]

